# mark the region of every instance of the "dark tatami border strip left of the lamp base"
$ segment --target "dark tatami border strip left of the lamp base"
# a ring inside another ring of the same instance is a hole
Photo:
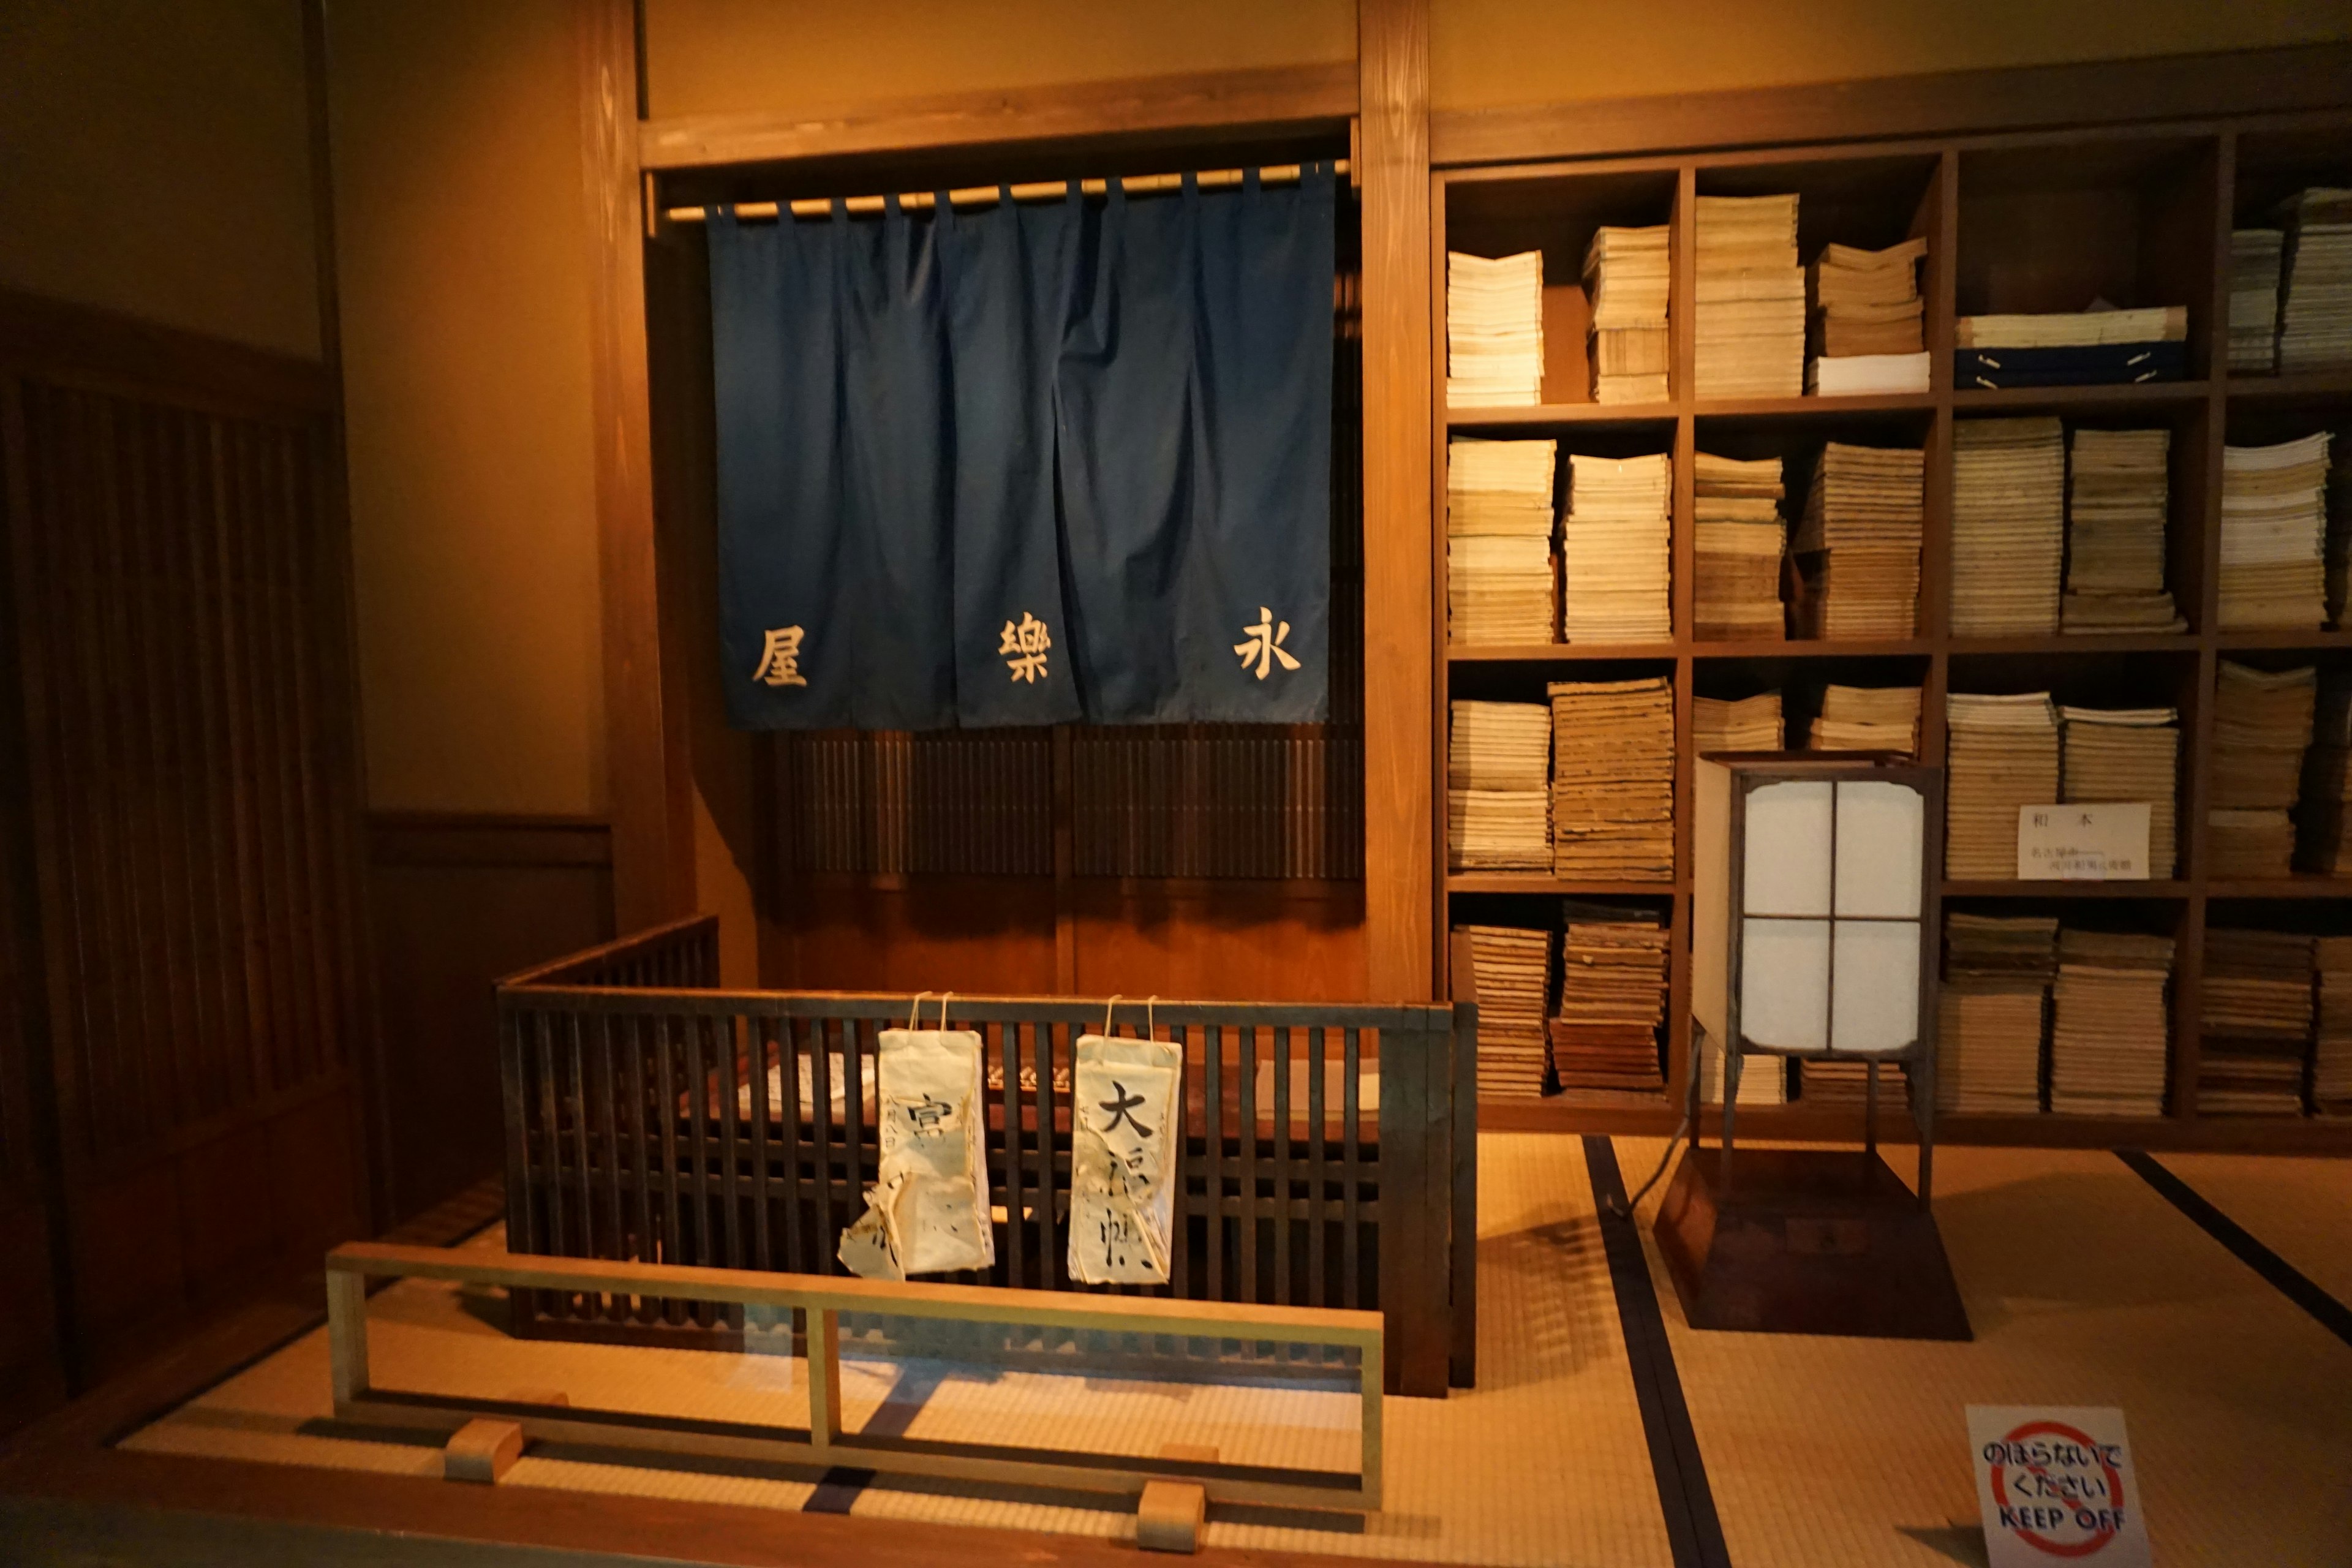
[[[1675,1347],[1665,1338],[1658,1286],[1642,1253],[1642,1225],[1623,1213],[1625,1178],[1618,1173],[1616,1145],[1585,1133],[1585,1171],[1592,1173],[1602,1253],[1609,1258],[1609,1284],[1616,1288],[1625,1356],[1632,1361],[1632,1394],[1642,1406],[1642,1434],[1649,1439],[1649,1467],[1658,1479],[1658,1507],[1665,1512],[1675,1568],[1731,1568],[1724,1521],[1715,1514],[1715,1490],[1708,1486],[1705,1460],[1698,1458],[1691,1406],[1675,1371]]]

